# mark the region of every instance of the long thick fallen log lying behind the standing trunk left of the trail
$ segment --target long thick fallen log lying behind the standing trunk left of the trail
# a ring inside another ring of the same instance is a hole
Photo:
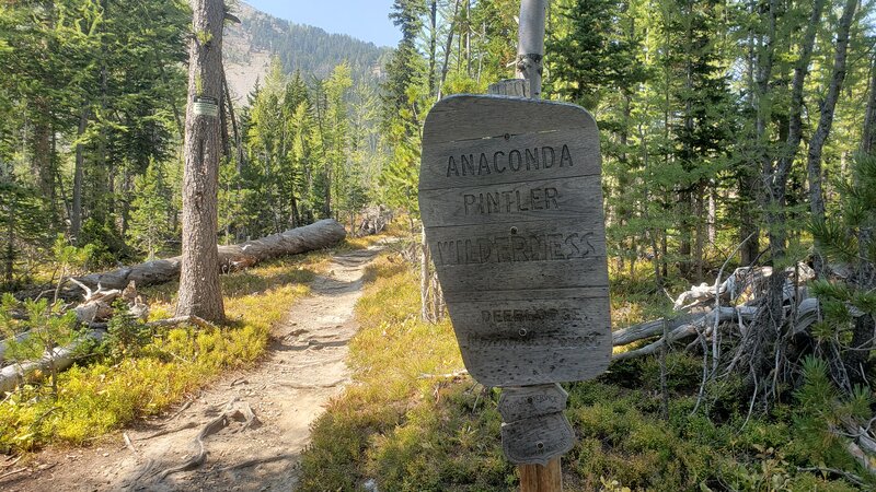
[[[219,246],[219,265],[223,273],[252,267],[258,262],[283,256],[298,255],[314,249],[327,248],[346,237],[344,226],[333,219],[325,219],[303,227],[291,229],[280,234],[245,243]],[[125,289],[131,281],[143,288],[176,280],[180,277],[182,257],[146,261],[102,273],[91,273],[76,279],[91,289]],[[80,285],[68,286],[66,297],[79,295]]]

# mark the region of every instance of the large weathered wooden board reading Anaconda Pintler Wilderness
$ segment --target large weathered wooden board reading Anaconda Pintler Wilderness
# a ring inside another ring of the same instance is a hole
[[[580,380],[611,356],[599,132],[578,106],[458,95],[429,113],[419,208],[465,367]]]

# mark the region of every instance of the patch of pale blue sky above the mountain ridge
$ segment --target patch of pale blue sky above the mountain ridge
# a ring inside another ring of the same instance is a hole
[[[243,0],[256,9],[297,24],[349,34],[378,46],[395,46],[402,37],[388,15],[392,0]]]

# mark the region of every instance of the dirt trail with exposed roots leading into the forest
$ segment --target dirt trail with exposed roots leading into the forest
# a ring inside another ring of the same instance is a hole
[[[34,471],[0,479],[0,490],[293,489],[311,422],[348,382],[347,342],[357,330],[353,306],[361,294],[364,268],[378,251],[335,256],[330,273],[311,284],[313,295],[299,301],[274,329],[257,367],[227,375],[171,417],[128,430],[129,446],[119,435],[101,447],[43,452],[32,464]],[[250,410],[256,420],[247,421]],[[199,433],[206,434],[203,465],[162,478],[163,470],[198,455]]]

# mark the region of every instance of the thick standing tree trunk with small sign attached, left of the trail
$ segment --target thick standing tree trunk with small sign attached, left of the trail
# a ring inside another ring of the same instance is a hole
[[[193,37],[189,51],[188,95],[222,101],[221,0],[193,0]],[[218,108],[216,108],[218,109]],[[198,112],[188,103],[183,172],[183,256],[177,316],[224,319],[219,285],[217,201],[221,128],[218,112]]]

